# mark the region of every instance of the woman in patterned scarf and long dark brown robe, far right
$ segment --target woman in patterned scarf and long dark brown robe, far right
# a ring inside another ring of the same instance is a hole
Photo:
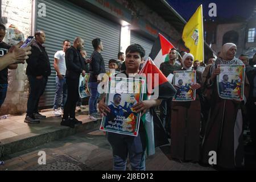
[[[207,77],[206,89],[209,90],[209,100],[212,108],[205,128],[203,139],[203,163],[209,164],[209,152],[217,154],[217,165],[221,168],[242,167],[243,160],[243,136],[242,136],[242,112],[241,101],[225,100],[218,96],[217,78],[221,64],[243,65],[236,56],[237,46],[233,43],[224,44],[220,57],[210,68]],[[245,96],[248,95],[249,84],[245,80]]]

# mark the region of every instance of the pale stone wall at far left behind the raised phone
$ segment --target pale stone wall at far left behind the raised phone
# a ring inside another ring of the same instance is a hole
[[[25,38],[31,34],[32,0],[2,0],[2,16],[8,18],[6,28],[13,24],[23,32]],[[26,112],[28,81],[25,72],[26,64],[18,65],[16,70],[9,70],[9,88],[0,115]]]

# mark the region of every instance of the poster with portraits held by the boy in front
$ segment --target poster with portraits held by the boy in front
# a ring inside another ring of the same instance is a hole
[[[138,136],[141,113],[133,106],[142,101],[144,80],[111,77],[106,93],[106,105],[111,110],[102,118],[100,130]]]

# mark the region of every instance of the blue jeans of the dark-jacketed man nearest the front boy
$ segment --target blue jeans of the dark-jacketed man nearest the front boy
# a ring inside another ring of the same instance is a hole
[[[98,82],[89,82],[90,99],[89,99],[89,114],[97,113],[97,102],[100,97],[98,93]]]

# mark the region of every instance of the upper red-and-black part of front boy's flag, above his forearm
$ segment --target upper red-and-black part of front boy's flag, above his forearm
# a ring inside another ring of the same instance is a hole
[[[174,88],[174,86],[172,86],[172,84],[167,80],[166,76],[164,76],[160,69],[156,66],[155,62],[152,61],[151,57],[148,57],[148,60],[146,61],[143,68],[139,72],[139,75],[142,75],[143,73],[147,79],[148,96],[154,96],[154,100],[156,100],[168,99],[175,95],[176,89]],[[158,79],[157,76],[159,77]],[[148,79],[150,79],[151,81],[148,81]],[[152,95],[152,93],[154,94]]]

